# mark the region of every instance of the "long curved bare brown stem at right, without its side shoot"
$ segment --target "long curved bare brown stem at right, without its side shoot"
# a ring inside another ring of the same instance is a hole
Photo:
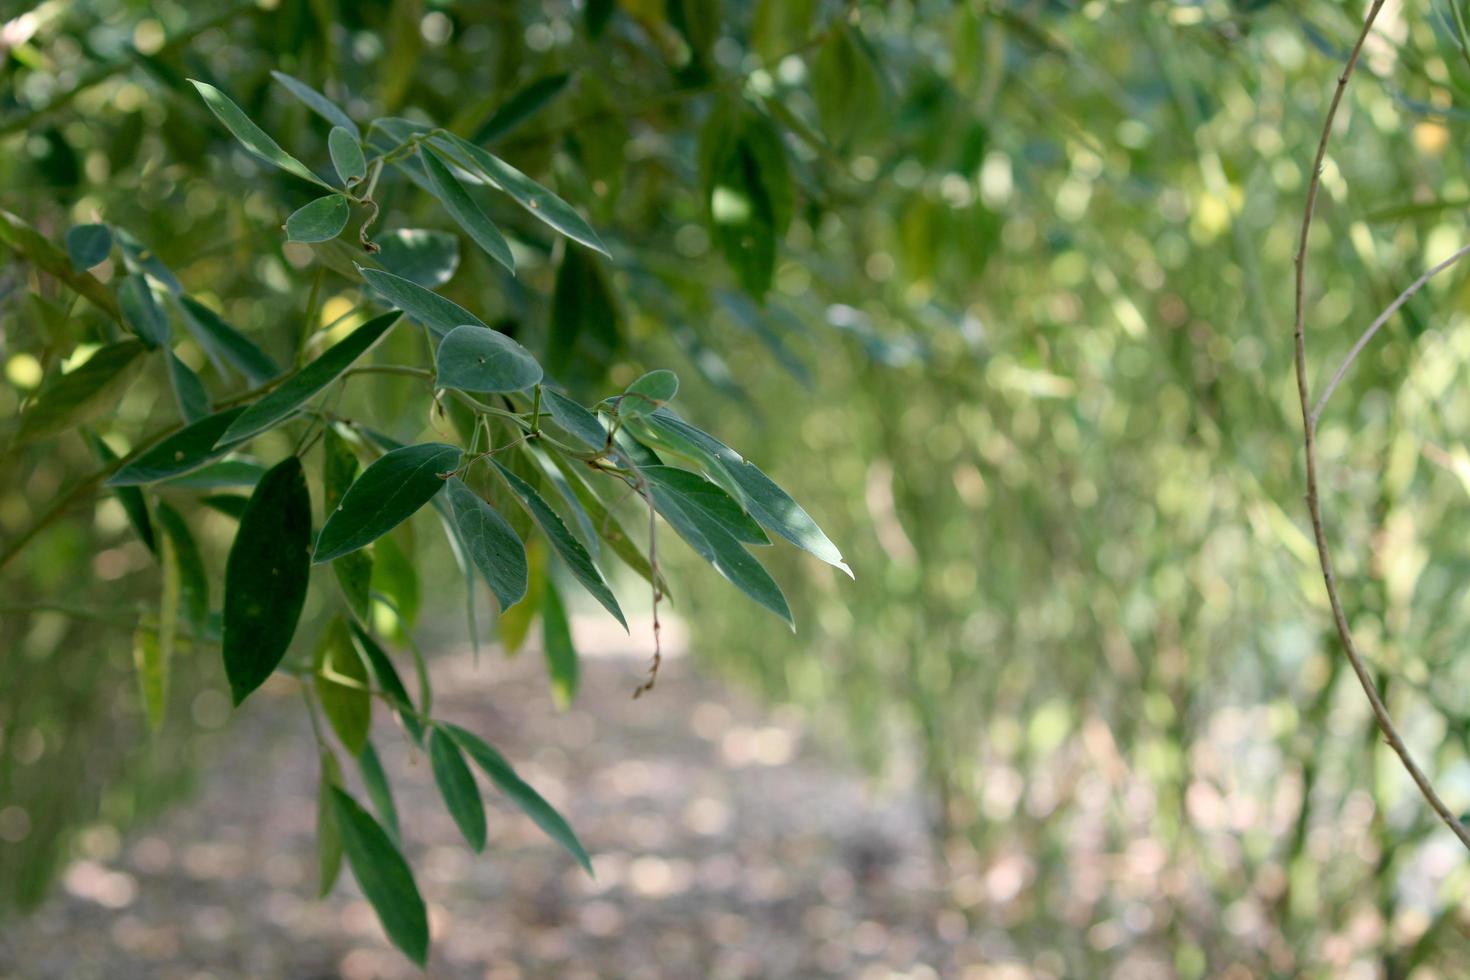
[[[1363,693],[1367,696],[1369,705],[1373,708],[1373,718],[1389,746],[1395,754],[1398,754],[1399,761],[1414,780],[1414,785],[1419,786],[1419,792],[1429,802],[1429,807],[1445,823],[1445,826],[1454,832],[1454,835],[1460,839],[1460,843],[1470,849],[1470,832],[1467,832],[1464,824],[1461,824],[1455,814],[1451,813],[1449,807],[1445,805],[1445,801],[1439,798],[1433,783],[1429,782],[1429,777],[1424,776],[1423,770],[1419,768],[1419,764],[1414,763],[1413,754],[1404,743],[1404,738],[1398,733],[1398,726],[1394,724],[1394,718],[1388,713],[1388,705],[1383,704],[1377,685],[1373,682],[1373,676],[1369,673],[1367,666],[1363,663],[1363,655],[1358,652],[1357,642],[1352,638],[1352,629],[1348,626],[1347,613],[1342,611],[1342,599],[1338,595],[1338,576],[1332,569],[1332,550],[1327,545],[1326,523],[1322,517],[1322,498],[1317,492],[1317,423],[1311,413],[1311,392],[1307,383],[1307,239],[1311,234],[1311,217],[1317,206],[1317,191],[1322,187],[1322,163],[1327,156],[1327,143],[1332,140],[1332,123],[1338,116],[1338,106],[1342,104],[1342,94],[1348,88],[1348,79],[1352,78],[1352,72],[1357,69],[1358,59],[1363,54],[1363,46],[1367,43],[1369,34],[1373,31],[1373,22],[1383,9],[1383,3],[1385,0],[1373,0],[1373,4],[1369,7],[1367,18],[1363,22],[1363,32],[1358,34],[1358,40],[1352,46],[1352,53],[1348,56],[1348,62],[1344,66],[1342,73],[1338,76],[1338,87],[1332,93],[1332,103],[1327,106],[1327,118],[1322,125],[1322,140],[1317,144],[1317,156],[1311,166],[1311,181],[1307,184],[1307,204],[1302,212],[1301,237],[1297,244],[1297,314],[1292,335],[1297,348],[1297,397],[1301,403],[1302,455],[1307,463],[1307,510],[1311,514],[1311,530],[1317,541],[1317,560],[1322,564],[1322,579],[1327,588],[1327,602],[1332,605],[1332,621],[1338,629],[1338,639],[1342,642],[1342,651],[1348,658],[1348,664],[1352,666],[1352,673],[1357,674],[1358,685],[1361,685]]]

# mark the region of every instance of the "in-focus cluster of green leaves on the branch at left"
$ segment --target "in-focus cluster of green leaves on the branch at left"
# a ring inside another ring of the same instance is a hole
[[[63,253],[19,217],[3,215],[0,234],[12,247],[131,334],[113,336],[79,366],[43,385],[19,417],[13,445],[53,439],[101,422],[138,381],[150,357],[165,360],[178,403],[176,425],[144,438],[123,458],[116,458],[106,441],[88,432],[103,461],[98,479],[104,478],[116,494],[138,538],[162,567],[157,620],[135,636],[147,717],[154,727],[163,723],[171,661],[181,641],[219,644],[237,707],[272,674],[297,676],[307,695],[322,760],[322,890],[331,887],[345,855],[390,939],[422,964],[428,949],[425,908],[398,849],[391,790],[369,739],[375,702],[381,701],[407,738],[425,748],[444,804],[475,851],[485,846],[487,833],[469,761],[578,862],[588,870],[591,865],[566,821],[494,748],[432,716],[428,670],[416,646],[419,692],[409,693],[373,633],[375,602],[400,620],[401,610],[394,597],[373,589],[370,545],[431,505],[467,583],[472,635],[479,632],[473,621],[478,574],[500,610],[501,639],[507,645],[519,645],[532,617],[539,614],[551,682],[562,702],[576,693],[576,651],[566,599],[542,548],[625,629],[626,617],[598,561],[606,545],[648,582],[657,623],[666,583],[657,561],[654,514],[725,579],[792,627],[781,588],[750,548],[769,545],[769,535],[776,535],[836,567],[847,570],[847,566],[785,491],[742,455],[672,411],[669,403],[678,391],[673,372],[645,373],[622,392],[584,406],[557,389],[531,351],[434,292],[435,275],[425,275],[420,256],[406,248],[401,237],[390,245],[394,239],[385,237],[379,244],[372,234],[378,216],[375,192],[385,173],[401,175],[435,197],[470,241],[512,272],[513,251],[476,192],[503,192],[575,242],[569,248],[606,256],[607,248],[575,209],[500,157],[445,129],[387,118],[362,131],[340,106],[304,82],[279,72],[275,78],[331,123],[328,147],[335,184],[284,150],[222,91],[206,82],[194,87],[250,153],[326,191],[290,215],[287,239],[318,250],[325,264],[360,282],[365,295],[388,311],[356,326],[331,325],[332,329],[307,336],[300,366],[282,372],[243,332],[191,297],[125,229],[104,223],[75,226],[66,235]],[[750,129],[738,132],[736,148],[729,153],[748,165],[742,154],[751,153],[750,147],[761,144],[763,137],[753,137]],[[779,154],[779,145],[772,148],[767,143],[760,153]],[[719,150],[714,159],[722,156],[728,156],[726,150]],[[713,166],[716,173],[728,169],[726,163]],[[773,247],[767,239],[789,220],[789,200],[756,201],[753,220],[759,220],[757,238],[764,237],[764,244],[754,248],[759,254],[753,254],[750,234],[732,238],[728,254],[748,285],[759,288],[769,282]],[[359,247],[343,239],[354,217]],[[121,253],[126,273],[109,288],[91,270],[115,253]],[[578,266],[581,272],[567,272]],[[589,257],[567,251],[557,281],[559,301],[581,300],[579,279],[600,275],[589,270],[595,270]],[[253,386],[223,397],[210,392],[172,350],[171,313],[222,373],[234,372]],[[422,328],[428,363],[366,363],[369,353],[404,322]],[[307,344],[328,338],[335,342],[306,359]],[[548,357],[557,360],[554,338]],[[354,376],[375,373],[422,381],[425,406],[435,406],[459,442],[403,445],[359,419],[340,414],[334,406],[341,386]],[[294,451],[270,466],[247,454],[253,444],[278,430],[294,438]],[[315,500],[307,478],[313,454],[319,457]],[[238,522],[218,613],[210,604],[200,548],[188,523],[165,500],[166,491],[194,492],[200,502]],[[648,507],[645,547],[617,517],[619,504],[631,495]],[[539,532],[539,545],[529,541],[532,530]],[[313,564],[331,566],[340,611],[320,633],[315,651],[293,655]],[[406,630],[398,633],[407,638]],[[651,685],[653,676],[642,689]],[[326,726],[318,723],[319,716]],[[337,749],[325,727],[357,761],[376,815],[345,790]]]

